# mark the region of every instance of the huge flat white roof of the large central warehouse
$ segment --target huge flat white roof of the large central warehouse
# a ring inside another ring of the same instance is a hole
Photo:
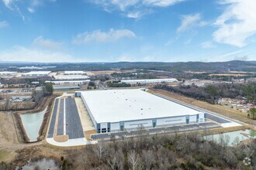
[[[81,91],[97,123],[195,115],[200,112],[143,90]]]

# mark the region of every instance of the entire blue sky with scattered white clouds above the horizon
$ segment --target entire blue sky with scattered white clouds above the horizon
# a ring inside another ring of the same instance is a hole
[[[256,60],[255,0],[0,0],[0,61]]]

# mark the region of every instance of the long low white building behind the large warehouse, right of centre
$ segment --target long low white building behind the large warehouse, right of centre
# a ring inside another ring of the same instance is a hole
[[[174,83],[177,79],[144,79],[144,80],[121,80],[120,83],[148,84],[148,83]]]

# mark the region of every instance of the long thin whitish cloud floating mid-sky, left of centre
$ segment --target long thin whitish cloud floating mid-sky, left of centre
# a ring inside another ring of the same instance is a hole
[[[73,39],[73,43],[83,44],[88,42],[116,42],[117,40],[124,37],[135,38],[136,35],[134,32],[128,29],[110,29],[109,32],[102,32],[100,30],[96,30],[94,32],[84,32],[78,34],[78,36]]]

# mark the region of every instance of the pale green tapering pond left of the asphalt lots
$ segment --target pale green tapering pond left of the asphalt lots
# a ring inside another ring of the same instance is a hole
[[[43,115],[46,111],[47,108],[39,113],[20,115],[26,134],[29,137],[29,141],[37,141],[36,138],[39,136],[39,130],[43,122]]]

